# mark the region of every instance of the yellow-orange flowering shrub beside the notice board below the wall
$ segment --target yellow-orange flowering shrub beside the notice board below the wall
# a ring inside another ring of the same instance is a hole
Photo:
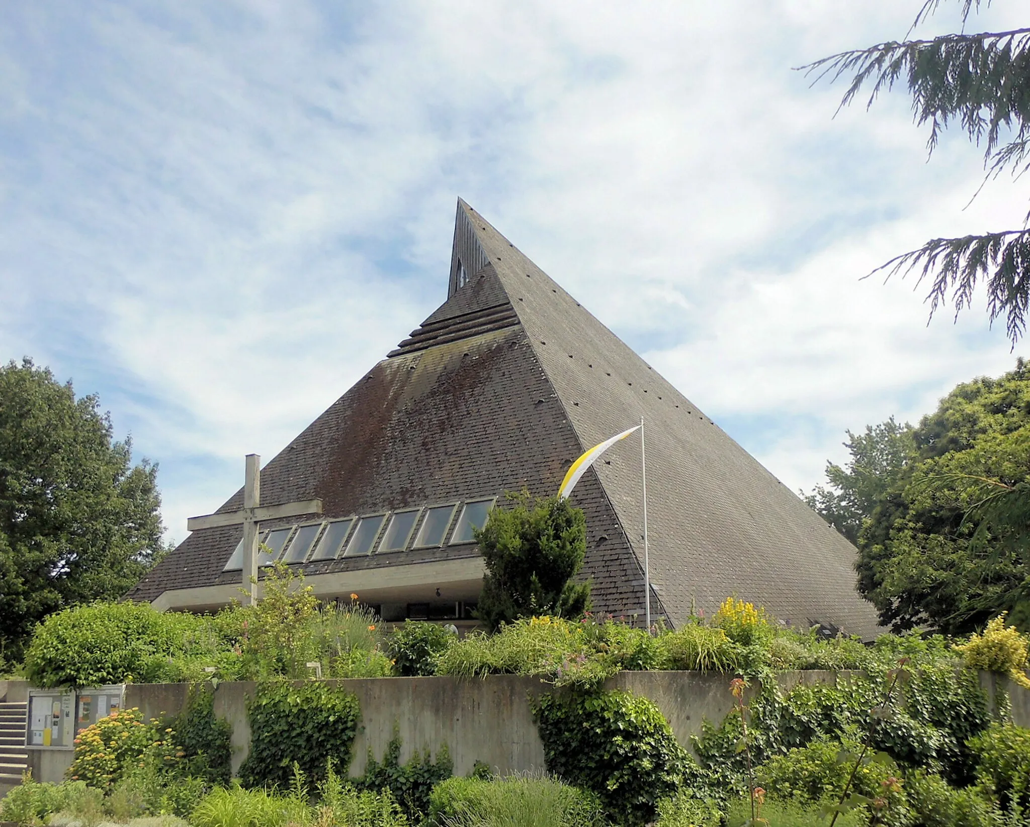
[[[66,774],[106,792],[131,766],[172,766],[182,757],[171,728],[143,723],[138,709],[116,710],[85,727],[75,739],[75,757]]]

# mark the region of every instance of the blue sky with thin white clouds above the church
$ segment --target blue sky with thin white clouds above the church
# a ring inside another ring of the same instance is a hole
[[[793,70],[903,38],[921,4],[8,4],[0,362],[98,394],[182,540],[445,299],[460,195],[811,490],[848,429],[1021,353],[983,297],[928,324],[913,280],[862,280],[1018,225],[1021,184],[969,205],[982,151],[928,158],[903,89],[837,112],[842,84]]]

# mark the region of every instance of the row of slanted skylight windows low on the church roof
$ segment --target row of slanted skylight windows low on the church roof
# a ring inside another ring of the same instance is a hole
[[[472,530],[482,528],[495,498],[449,503],[431,508],[406,508],[402,511],[344,517],[328,523],[283,526],[264,532],[260,543],[268,548],[258,553],[259,566],[283,563],[316,563],[338,558],[367,556],[374,551],[404,551],[415,535],[412,548],[433,548],[444,544],[454,512],[461,505],[461,515],[454,526],[448,545],[471,543]],[[421,525],[418,518],[424,512]],[[383,531],[383,527],[386,530]],[[418,532],[415,533],[415,527]],[[243,569],[243,540],[229,558],[222,571]]]

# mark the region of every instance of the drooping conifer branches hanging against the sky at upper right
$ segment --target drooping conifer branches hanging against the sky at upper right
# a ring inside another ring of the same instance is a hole
[[[941,0],[926,0],[913,25],[925,23]],[[961,0],[963,22],[982,0]],[[990,5],[988,0],[985,5]],[[866,84],[868,105],[881,92],[905,83],[916,122],[929,124],[932,153],[941,133],[955,124],[984,146],[988,177],[1006,170],[1018,178],[1030,168],[1030,28],[980,34],[946,34],[928,40],[878,43],[843,51],[801,67],[817,78],[851,77],[842,106]],[[928,280],[932,315],[949,300],[956,313],[969,307],[986,282],[991,321],[1004,316],[1012,344],[1026,330],[1030,308],[1030,228],[954,239],[933,239],[888,261],[888,276],[915,271]]]

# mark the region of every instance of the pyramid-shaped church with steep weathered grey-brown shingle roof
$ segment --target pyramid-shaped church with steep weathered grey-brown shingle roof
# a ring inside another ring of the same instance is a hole
[[[553,494],[641,417],[654,616],[678,626],[735,595],[791,624],[877,633],[854,547],[461,201],[447,300],[262,470],[263,503],[320,498],[322,514],[262,537],[324,600],[356,592],[385,620],[469,617],[483,576],[470,526],[505,492]],[[616,616],[644,615],[641,481],[627,440],[571,497],[594,609]],[[219,511],[242,503],[240,490]],[[194,532],[128,597],[228,604],[241,533]]]

